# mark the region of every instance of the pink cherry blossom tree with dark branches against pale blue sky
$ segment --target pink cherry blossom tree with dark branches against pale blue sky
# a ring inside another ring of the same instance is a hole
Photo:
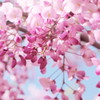
[[[33,67],[38,66],[40,73],[46,74],[51,60],[51,75],[38,79],[44,90],[52,94],[44,92],[43,100],[69,100],[65,87],[72,90],[75,100],[84,100],[86,88],[82,81],[89,77],[79,68],[80,61],[90,70],[96,66],[94,74],[100,75],[100,59],[91,47],[100,49],[100,0],[1,2],[0,100],[31,100],[25,98],[21,87],[30,78],[30,71],[35,73]],[[57,70],[52,72],[55,66]],[[4,78],[6,73],[13,84]],[[60,75],[58,87],[56,79]],[[72,88],[67,80],[75,80],[78,88]],[[100,88],[100,81],[95,88]],[[96,100],[100,100],[100,93]]]

